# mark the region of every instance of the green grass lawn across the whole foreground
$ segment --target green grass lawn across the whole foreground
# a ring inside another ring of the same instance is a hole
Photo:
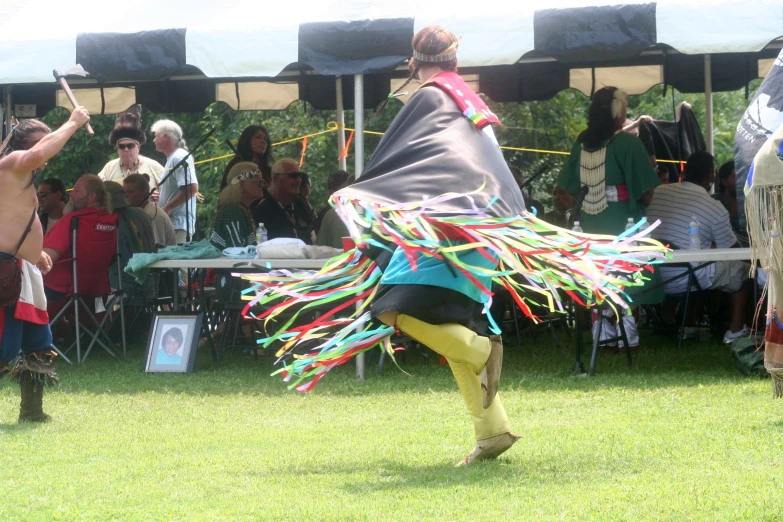
[[[644,342],[633,368],[601,356],[594,378],[545,333],[507,346],[523,438],[467,469],[448,366],[416,351],[409,375],[343,367],[304,395],[269,357],[215,367],[204,349],[192,375],[145,375],[140,346],[60,361],[50,424],[18,425],[18,387],[0,381],[0,520],[783,520],[769,380],[716,342]]]

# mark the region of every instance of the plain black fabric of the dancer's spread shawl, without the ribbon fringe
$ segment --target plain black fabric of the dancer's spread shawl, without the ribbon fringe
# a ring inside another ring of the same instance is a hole
[[[468,193],[494,217],[525,210],[522,193],[498,144],[478,129],[440,87],[427,85],[411,96],[394,119],[359,180],[337,195],[383,204],[421,201],[446,192]],[[436,205],[460,214],[465,198]]]

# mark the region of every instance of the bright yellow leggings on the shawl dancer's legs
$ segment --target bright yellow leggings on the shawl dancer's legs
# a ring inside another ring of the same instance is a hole
[[[397,328],[418,342],[439,353],[449,362],[465,406],[473,419],[476,440],[484,440],[511,431],[506,410],[496,395],[492,405],[484,409],[481,380],[490,352],[488,337],[482,337],[455,323],[433,325],[405,314],[397,316]]]

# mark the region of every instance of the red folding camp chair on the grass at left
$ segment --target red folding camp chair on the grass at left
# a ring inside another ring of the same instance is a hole
[[[122,297],[122,278],[120,288],[113,292],[109,286],[109,267],[114,257],[118,255],[117,216],[113,214],[83,214],[71,218],[71,256],[73,281],[68,292],[67,302],[51,321],[54,326],[65,313],[73,309],[76,340],[65,350],[68,353],[76,346],[76,361],[83,363],[93,346],[100,344],[111,356],[117,355],[112,350],[114,343],[104,330],[107,319],[111,316],[116,304],[120,306],[122,353],[126,353],[125,345],[125,314]],[[119,271],[119,263],[117,263]],[[101,299],[104,315],[99,321],[93,309]],[[86,314],[83,317],[81,313]],[[86,321],[89,319],[89,326]],[[82,336],[89,339],[87,350],[82,355]],[[56,349],[56,347],[55,347]],[[59,351],[59,350],[58,350]]]

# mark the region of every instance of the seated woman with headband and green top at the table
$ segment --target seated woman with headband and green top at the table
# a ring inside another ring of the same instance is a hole
[[[258,165],[237,163],[228,173],[228,185],[218,196],[218,210],[209,241],[220,250],[256,243],[256,223],[252,210],[264,197],[265,182]],[[264,224],[269,229],[269,226]]]

